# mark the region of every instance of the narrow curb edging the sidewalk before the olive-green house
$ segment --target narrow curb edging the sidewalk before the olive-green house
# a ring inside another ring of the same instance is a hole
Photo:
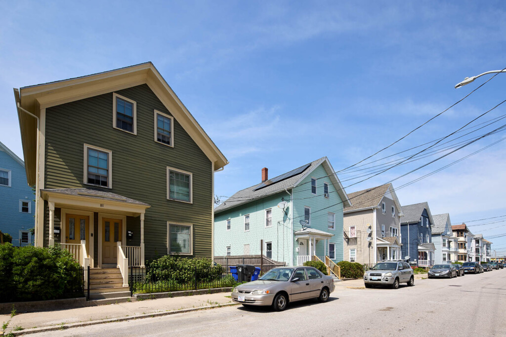
[[[215,309],[215,308],[222,308],[222,307],[232,307],[232,306],[236,306],[236,305],[239,305],[239,304],[238,303],[216,304],[216,305],[210,305],[210,306],[198,307],[198,308],[188,308],[188,309],[181,309],[181,310],[174,310],[174,311],[167,311],[167,312],[154,312],[151,314],[142,314],[142,315],[133,315],[133,316],[128,316],[128,317],[100,319],[100,320],[94,320],[94,321],[89,321],[89,322],[77,322],[77,323],[69,323],[69,324],[63,324],[63,325],[44,326],[44,327],[39,327],[39,328],[24,329],[24,330],[20,330],[20,331],[11,331],[10,333],[12,333],[12,335],[14,335],[14,336],[20,336],[20,335],[30,334],[30,333],[67,330],[67,329],[73,328],[73,327],[82,327],[82,326],[97,325],[97,324],[103,324],[103,323],[123,322],[123,321],[129,321],[129,320],[133,320],[133,319],[160,317],[160,316],[181,314],[181,313],[187,313],[187,312],[193,312],[193,311],[199,311],[199,310]]]

